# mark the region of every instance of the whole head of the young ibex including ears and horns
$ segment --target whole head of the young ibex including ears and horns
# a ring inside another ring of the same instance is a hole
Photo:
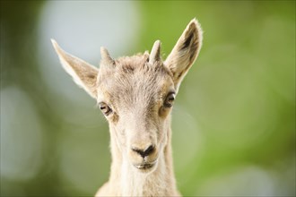
[[[152,172],[164,157],[171,107],[201,43],[202,30],[194,19],[164,62],[160,41],[154,43],[150,55],[146,52],[116,60],[102,47],[99,70],[66,54],[53,41],[67,73],[97,99],[108,119],[112,146],[118,154],[112,156],[144,173]]]

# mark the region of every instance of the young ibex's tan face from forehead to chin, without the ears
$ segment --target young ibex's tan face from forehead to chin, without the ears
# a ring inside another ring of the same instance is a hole
[[[159,42],[153,50],[160,52]],[[98,103],[109,121],[123,158],[142,172],[156,166],[167,142],[167,124],[175,99],[170,69],[160,53],[102,60],[98,77]],[[104,49],[102,49],[104,53]]]

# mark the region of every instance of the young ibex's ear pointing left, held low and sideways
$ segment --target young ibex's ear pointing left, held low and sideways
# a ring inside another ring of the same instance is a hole
[[[78,86],[82,87],[92,98],[97,98],[97,77],[99,69],[91,64],[84,62],[82,59],[67,54],[61,47],[57,45],[54,39],[51,39],[53,46],[56,49],[57,55],[61,64],[65,68],[66,73],[69,73]]]

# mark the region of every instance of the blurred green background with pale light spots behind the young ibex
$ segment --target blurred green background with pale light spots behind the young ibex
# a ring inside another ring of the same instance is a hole
[[[178,189],[295,195],[295,1],[1,1],[1,196],[91,196],[109,177],[108,124],[51,46],[100,61],[168,56],[187,23],[204,45],[173,109]]]

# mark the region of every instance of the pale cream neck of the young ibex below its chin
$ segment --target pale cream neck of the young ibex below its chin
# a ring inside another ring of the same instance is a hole
[[[116,196],[177,196],[178,191],[173,173],[170,128],[168,144],[159,155],[157,168],[149,173],[141,173],[122,158],[116,141],[111,136],[112,165],[109,183],[106,186],[116,189]],[[110,191],[109,190],[109,191]]]

